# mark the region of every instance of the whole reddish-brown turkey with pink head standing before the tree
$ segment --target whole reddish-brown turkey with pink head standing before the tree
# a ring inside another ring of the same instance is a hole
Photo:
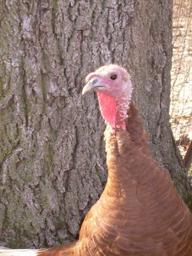
[[[150,155],[129,74],[105,65],[86,82],[83,94],[97,92],[107,124],[106,187],[86,215],[77,242],[47,250],[1,250],[0,256],[191,256],[191,213]]]

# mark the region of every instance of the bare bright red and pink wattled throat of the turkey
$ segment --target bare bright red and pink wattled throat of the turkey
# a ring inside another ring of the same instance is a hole
[[[116,134],[116,129],[126,130],[125,119],[128,117],[127,110],[131,102],[132,86],[126,84],[124,91],[115,97],[106,93],[97,92],[100,112],[111,127],[111,133]]]

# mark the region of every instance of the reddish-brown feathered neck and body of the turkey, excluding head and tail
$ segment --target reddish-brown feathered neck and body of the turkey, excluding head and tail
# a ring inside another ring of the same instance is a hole
[[[134,104],[129,116],[127,131],[106,129],[108,182],[81,227],[81,255],[191,256],[191,213],[150,155]]]

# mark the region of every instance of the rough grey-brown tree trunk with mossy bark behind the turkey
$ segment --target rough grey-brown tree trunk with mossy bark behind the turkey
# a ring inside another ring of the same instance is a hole
[[[107,178],[97,99],[81,97],[104,63],[129,70],[152,154],[186,198],[168,123],[172,1],[0,2],[1,245],[77,238]]]

